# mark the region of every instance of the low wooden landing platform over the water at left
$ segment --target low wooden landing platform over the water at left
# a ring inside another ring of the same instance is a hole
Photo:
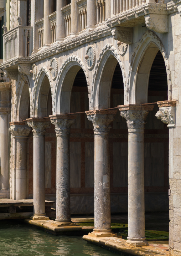
[[[51,213],[54,202],[45,201],[45,212]],[[33,199],[0,199],[0,220],[27,219],[33,215]]]

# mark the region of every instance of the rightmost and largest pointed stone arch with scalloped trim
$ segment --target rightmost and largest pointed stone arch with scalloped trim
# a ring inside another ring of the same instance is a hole
[[[138,42],[131,57],[126,85],[127,103],[141,104],[147,102],[150,70],[158,51],[161,52],[164,58],[167,72],[168,100],[171,100],[171,73],[168,57],[159,37],[148,30]]]

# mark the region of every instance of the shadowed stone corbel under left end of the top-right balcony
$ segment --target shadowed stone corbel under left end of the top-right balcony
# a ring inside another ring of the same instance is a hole
[[[115,40],[126,43],[128,45],[133,43],[132,27],[113,27],[111,32]]]

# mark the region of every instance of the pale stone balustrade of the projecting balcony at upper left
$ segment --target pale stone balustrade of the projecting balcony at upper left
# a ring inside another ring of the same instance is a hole
[[[4,61],[27,57],[32,52],[32,27],[18,26],[3,34]],[[29,41],[30,40],[30,41]],[[29,46],[29,47],[28,47]]]

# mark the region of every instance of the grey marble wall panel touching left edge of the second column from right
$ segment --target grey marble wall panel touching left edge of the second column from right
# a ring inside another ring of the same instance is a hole
[[[85,187],[94,188],[94,142],[85,143]]]

